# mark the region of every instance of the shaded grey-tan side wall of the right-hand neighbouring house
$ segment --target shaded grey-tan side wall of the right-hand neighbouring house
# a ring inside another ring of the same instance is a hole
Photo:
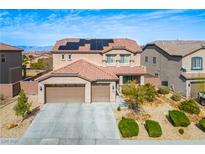
[[[148,62],[145,62],[146,56]],[[156,64],[153,64],[153,57],[157,59]],[[148,73],[152,75],[157,73],[161,81],[168,81],[169,87],[186,95],[186,82],[180,77],[181,57],[169,56],[155,46],[148,46],[141,54],[141,64],[147,67]]]

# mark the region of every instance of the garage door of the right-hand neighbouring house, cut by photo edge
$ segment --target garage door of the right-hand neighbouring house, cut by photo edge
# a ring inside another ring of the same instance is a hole
[[[191,83],[191,97],[197,98],[198,92],[202,91],[205,87],[205,82],[192,82]]]

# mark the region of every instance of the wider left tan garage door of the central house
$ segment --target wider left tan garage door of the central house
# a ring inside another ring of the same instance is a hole
[[[46,85],[46,103],[85,102],[85,85]]]

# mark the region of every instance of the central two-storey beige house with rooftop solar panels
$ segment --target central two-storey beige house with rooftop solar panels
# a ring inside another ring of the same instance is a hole
[[[52,49],[53,71],[38,78],[39,103],[115,102],[129,80],[144,84],[139,45],[130,39],[62,39]]]

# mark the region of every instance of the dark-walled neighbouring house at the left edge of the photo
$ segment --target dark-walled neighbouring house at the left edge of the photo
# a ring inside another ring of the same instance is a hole
[[[0,94],[12,97],[19,88],[13,84],[22,79],[22,51],[23,49],[0,43]]]

